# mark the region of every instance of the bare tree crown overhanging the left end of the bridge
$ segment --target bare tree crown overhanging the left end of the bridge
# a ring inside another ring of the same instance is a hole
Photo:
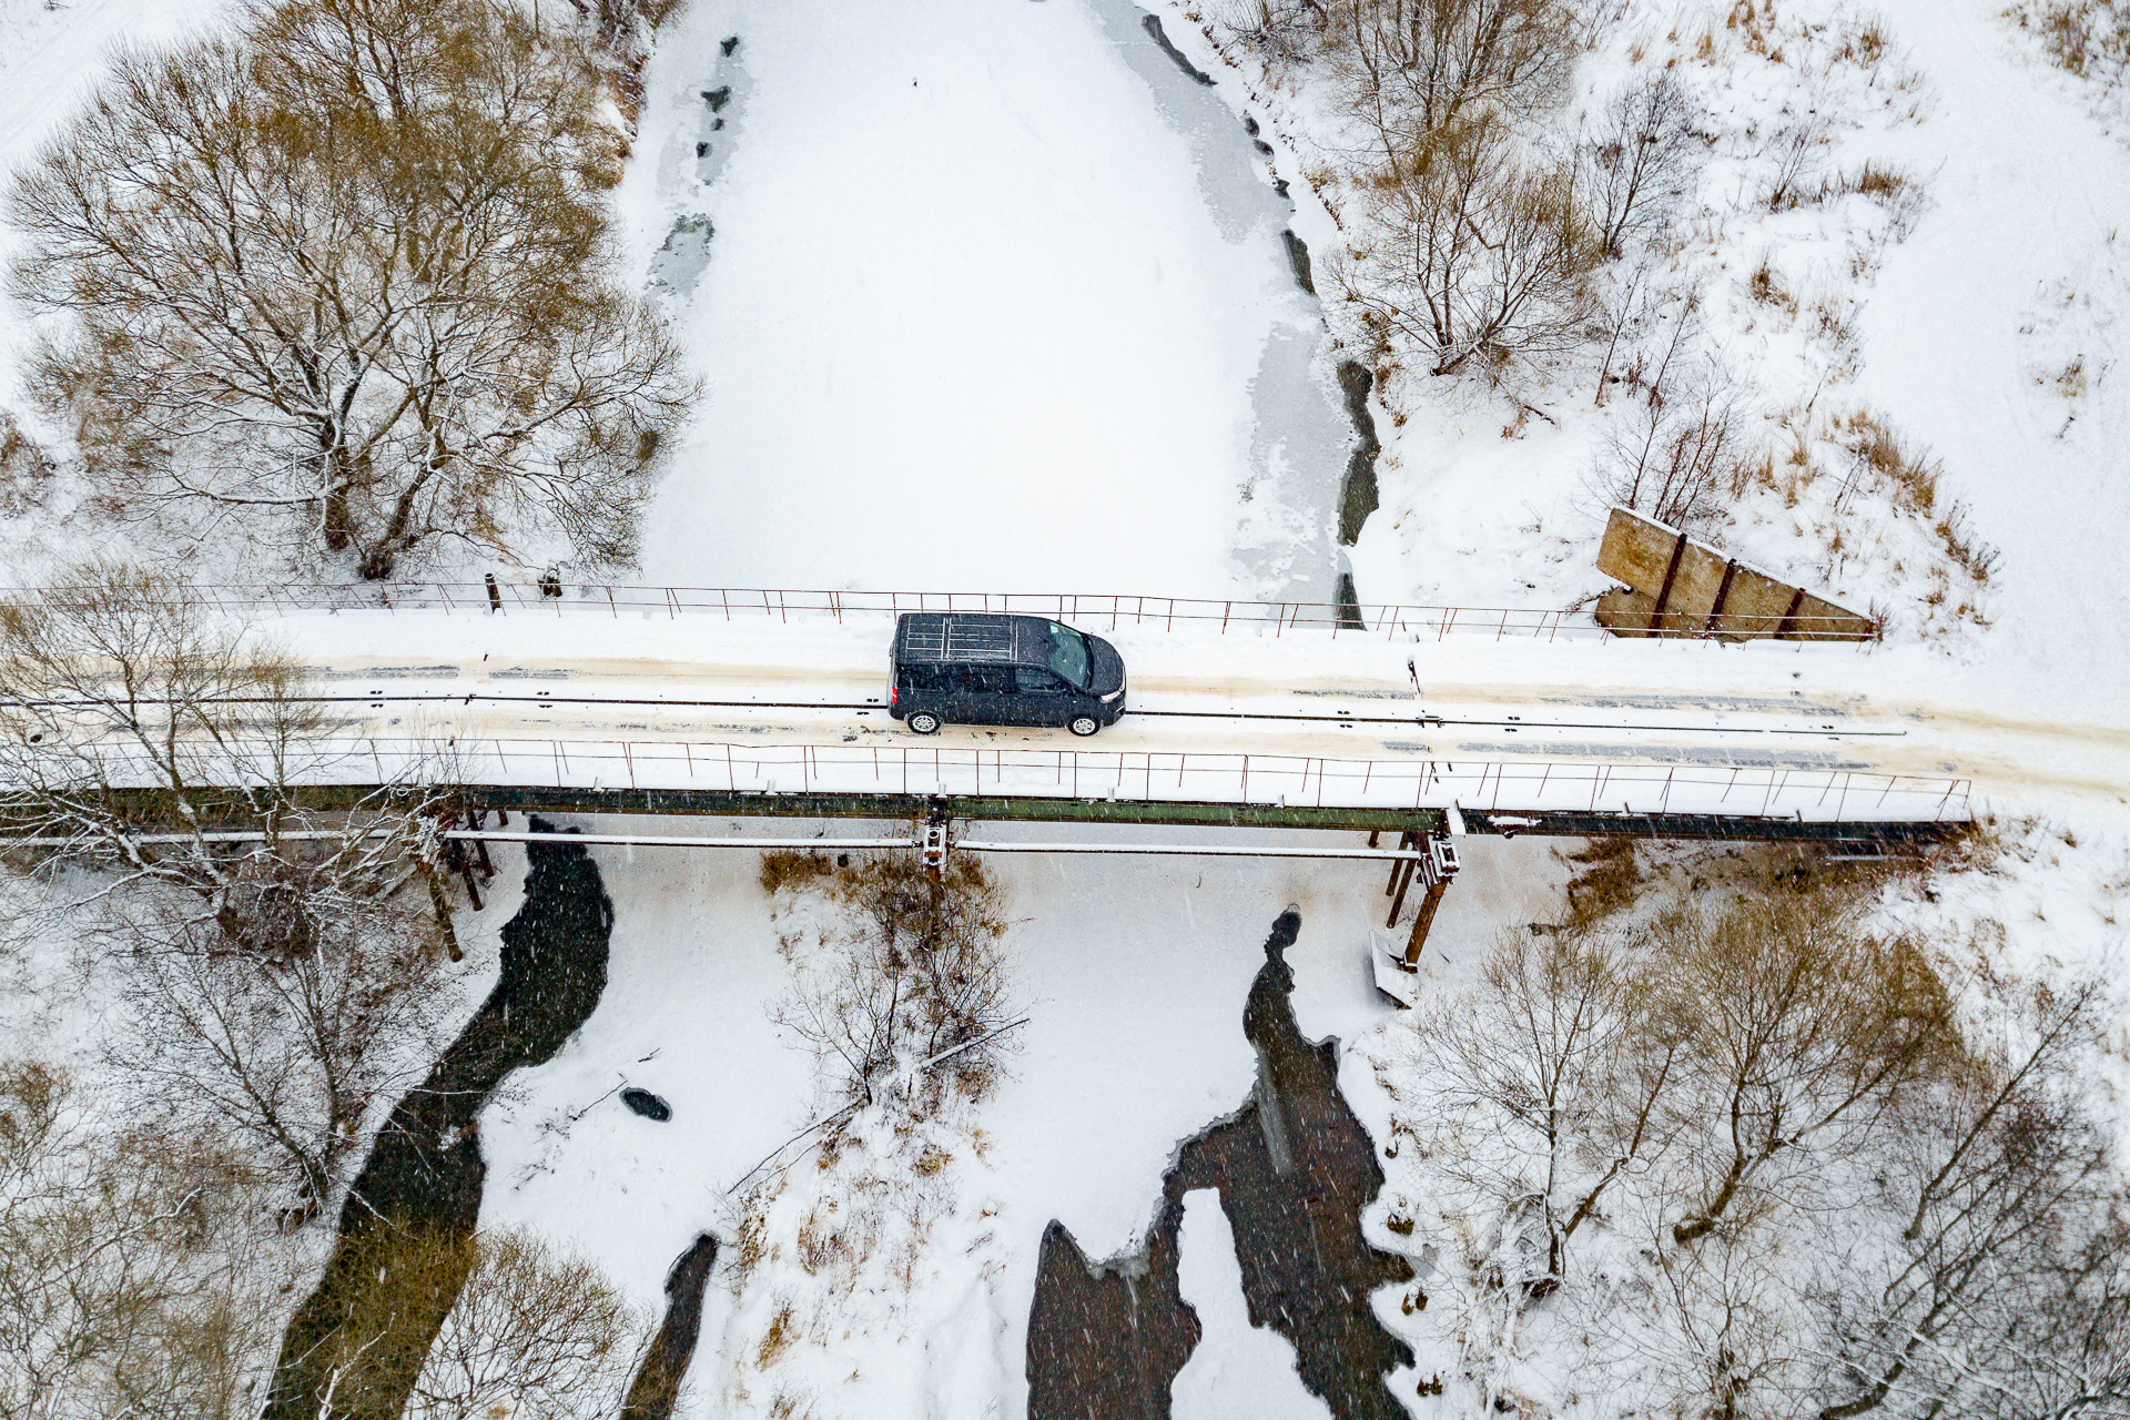
[[[102,869],[98,898],[177,888],[241,945],[298,926],[277,918],[305,901],[294,879],[396,892],[432,847],[420,779],[439,764],[317,811],[305,786],[334,775],[337,728],[298,660],[177,577],[92,562],[0,602],[0,828]]]

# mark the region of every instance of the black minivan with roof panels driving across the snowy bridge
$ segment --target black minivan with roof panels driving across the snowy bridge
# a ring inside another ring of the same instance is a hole
[[[888,713],[918,734],[948,722],[1093,734],[1125,713],[1125,658],[1046,617],[905,611],[895,620]]]

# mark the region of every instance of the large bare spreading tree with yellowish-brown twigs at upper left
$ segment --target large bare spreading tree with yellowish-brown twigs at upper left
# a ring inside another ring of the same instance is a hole
[[[692,385],[605,277],[622,138],[584,72],[481,0],[290,0],[121,55],[9,202],[92,470],[364,577],[439,539],[626,560]]]

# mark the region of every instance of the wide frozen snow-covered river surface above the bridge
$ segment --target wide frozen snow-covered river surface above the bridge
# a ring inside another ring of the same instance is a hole
[[[650,581],[1331,600],[1293,207],[1137,6],[701,0],[648,85],[622,200],[709,385]]]

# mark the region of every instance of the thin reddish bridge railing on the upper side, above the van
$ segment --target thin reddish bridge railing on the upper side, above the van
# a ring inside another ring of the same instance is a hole
[[[1612,632],[1585,611],[1544,607],[1438,607],[1399,602],[1259,602],[1191,596],[1037,594],[1037,592],[837,592],[775,588],[652,588],[558,581],[364,581],[219,583],[192,590],[202,605],[232,613],[292,611],[449,611],[481,615],[722,617],[737,620],[890,620],[903,611],[1012,611],[1071,622],[1082,630],[1293,630],[1331,637],[1376,634],[1391,641],[1493,637],[1604,641]],[[0,590],[36,598],[40,590]],[[1787,634],[1810,639],[1832,617],[1789,617]]]

